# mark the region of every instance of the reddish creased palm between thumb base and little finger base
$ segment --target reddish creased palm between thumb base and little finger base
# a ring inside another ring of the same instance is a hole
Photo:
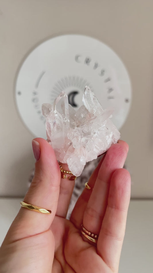
[[[96,247],[82,240],[80,230],[76,229],[71,221],[56,216],[52,224],[55,237],[55,256],[52,272],[111,272],[97,254]],[[88,261],[88,262],[85,262]],[[98,270],[99,269],[99,270]]]

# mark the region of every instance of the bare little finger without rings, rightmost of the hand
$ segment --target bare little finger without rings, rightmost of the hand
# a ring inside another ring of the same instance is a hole
[[[113,272],[118,272],[130,190],[129,172],[125,169],[116,170],[111,178],[108,205],[97,242],[98,254]]]

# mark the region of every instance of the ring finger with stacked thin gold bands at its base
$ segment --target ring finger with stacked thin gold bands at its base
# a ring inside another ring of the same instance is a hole
[[[94,189],[86,206],[83,225],[94,234],[99,234],[102,220],[106,211],[109,186],[113,172],[123,168],[127,157],[127,149],[123,144],[113,145],[106,153],[99,169]]]

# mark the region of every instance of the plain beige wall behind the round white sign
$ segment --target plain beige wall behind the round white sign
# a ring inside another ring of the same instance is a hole
[[[133,88],[121,138],[129,144],[132,197],[153,197],[153,1],[0,0],[0,195],[21,196],[34,167],[33,136],[14,100],[18,69],[27,54],[53,35],[85,34],[121,57]]]

